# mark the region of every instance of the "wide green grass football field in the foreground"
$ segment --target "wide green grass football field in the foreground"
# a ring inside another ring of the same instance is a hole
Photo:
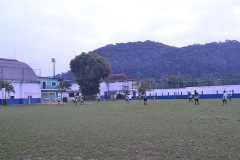
[[[240,158],[240,99],[0,106],[1,160]]]

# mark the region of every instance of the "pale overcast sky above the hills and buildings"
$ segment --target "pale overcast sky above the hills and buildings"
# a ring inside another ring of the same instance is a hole
[[[240,41],[239,0],[0,0],[0,58],[38,76],[70,70],[82,52],[155,41],[183,47]]]

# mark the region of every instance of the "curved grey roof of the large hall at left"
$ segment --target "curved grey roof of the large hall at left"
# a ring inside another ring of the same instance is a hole
[[[39,82],[36,73],[26,63],[0,58],[0,81]]]

